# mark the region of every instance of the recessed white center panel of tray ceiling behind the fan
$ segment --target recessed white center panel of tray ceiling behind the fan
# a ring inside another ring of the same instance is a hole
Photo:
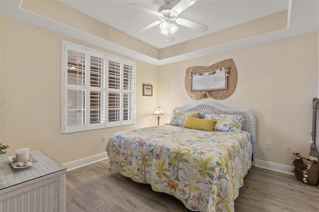
[[[287,10],[289,2],[288,0],[197,0],[178,14],[178,17],[205,24],[208,30],[201,32],[178,25],[175,41],[166,43],[166,36],[160,33],[159,25],[143,33],[134,33],[159,20],[159,17],[130,4],[138,3],[158,11],[165,2],[175,5],[179,0],[58,1],[159,49]]]

